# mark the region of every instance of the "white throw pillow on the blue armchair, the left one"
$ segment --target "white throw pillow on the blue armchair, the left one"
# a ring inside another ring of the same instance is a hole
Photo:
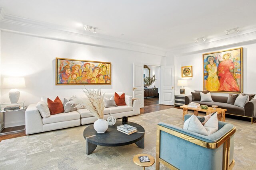
[[[208,132],[202,125],[202,123],[198,120],[198,118],[195,115],[192,115],[190,118],[188,118],[183,125],[183,129],[207,136]]]

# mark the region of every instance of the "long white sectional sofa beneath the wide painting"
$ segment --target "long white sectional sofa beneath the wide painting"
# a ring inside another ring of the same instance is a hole
[[[118,94],[122,94],[122,92],[118,92]],[[105,94],[105,97],[108,99],[110,99],[111,96],[114,96],[114,93]],[[63,98],[60,99],[63,100]],[[132,104],[128,105],[104,108],[104,119],[110,116],[114,116],[118,119],[122,116],[140,114],[140,100],[133,99]],[[89,113],[90,111],[88,111],[88,109],[76,109],[76,111],[59,113],[43,118],[36,108],[36,104],[30,104],[25,112],[26,135],[94,123],[97,118]]]

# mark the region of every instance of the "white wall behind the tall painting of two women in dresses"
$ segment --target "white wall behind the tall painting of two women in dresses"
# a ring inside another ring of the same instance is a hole
[[[256,94],[255,84],[256,84],[256,69],[255,69],[255,59],[256,59],[256,43],[247,42],[241,43],[239,45],[231,45],[227,47],[219,47],[211,50],[203,50],[190,55],[178,55],[174,57],[175,60],[175,94],[179,94],[180,87],[177,86],[177,80],[187,79],[188,86],[184,87],[186,89],[186,95],[191,95],[190,92],[194,90],[203,89],[203,53],[210,53],[214,51],[222,51],[227,49],[234,49],[243,47],[243,75],[244,75],[244,88],[243,92],[248,94]],[[171,56],[170,56],[171,57]],[[192,78],[181,78],[181,66],[193,66],[193,77]],[[227,93],[213,93],[218,96],[228,96]]]

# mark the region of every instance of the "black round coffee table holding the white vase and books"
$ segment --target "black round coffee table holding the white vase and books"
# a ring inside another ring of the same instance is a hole
[[[138,132],[126,135],[117,129],[117,126],[122,125],[122,121],[116,121],[113,126],[108,126],[105,133],[97,133],[94,130],[93,124],[84,129],[84,139],[86,139],[86,154],[91,154],[97,145],[105,147],[118,147],[135,143],[138,147],[144,149],[144,128],[133,122],[128,122],[128,125],[137,128]]]

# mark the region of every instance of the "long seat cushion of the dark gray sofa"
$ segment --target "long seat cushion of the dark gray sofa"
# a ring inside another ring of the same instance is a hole
[[[217,105],[218,108],[227,109],[226,113],[241,115],[241,116],[245,115],[244,108],[234,106],[232,104],[221,103],[221,102],[200,102],[200,101],[195,101],[195,102],[198,102],[199,104],[207,105],[209,107],[212,107],[212,105]]]

